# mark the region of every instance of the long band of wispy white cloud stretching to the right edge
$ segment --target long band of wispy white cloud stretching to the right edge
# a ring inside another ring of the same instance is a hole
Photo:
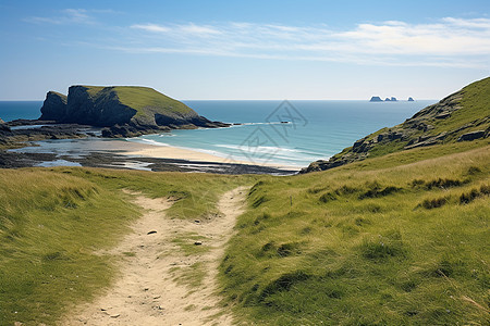
[[[481,67],[490,64],[488,18],[445,17],[431,24],[388,21],[358,24],[350,30],[246,22],[131,27],[148,33],[144,43],[123,45],[119,49],[375,65]]]

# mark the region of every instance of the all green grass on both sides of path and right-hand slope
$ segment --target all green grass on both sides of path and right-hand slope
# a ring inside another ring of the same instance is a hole
[[[328,171],[0,171],[0,324],[53,324],[113,284],[115,258],[100,252],[142,214],[124,190],[171,199],[168,218],[206,221],[220,214],[222,193],[246,186],[246,210],[219,267],[222,305],[237,323],[488,325],[490,139],[458,139],[488,131],[489,80],[414,116],[432,126],[411,128],[414,137],[449,134],[441,141],[388,141],[402,124],[364,139],[379,140],[373,154]],[[457,109],[436,118],[449,108]],[[200,254],[189,244],[199,239],[174,243]],[[199,284],[205,271],[193,268],[175,277]]]

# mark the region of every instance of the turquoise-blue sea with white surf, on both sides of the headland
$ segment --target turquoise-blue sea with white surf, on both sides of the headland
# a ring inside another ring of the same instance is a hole
[[[192,149],[230,161],[302,167],[328,159],[357,139],[404,122],[436,101],[183,101],[230,128],[172,130],[126,139]],[[0,101],[0,117],[38,118],[41,101]]]

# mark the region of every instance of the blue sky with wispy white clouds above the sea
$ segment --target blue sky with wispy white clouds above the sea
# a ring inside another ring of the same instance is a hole
[[[440,99],[489,75],[488,0],[0,0],[0,100]]]

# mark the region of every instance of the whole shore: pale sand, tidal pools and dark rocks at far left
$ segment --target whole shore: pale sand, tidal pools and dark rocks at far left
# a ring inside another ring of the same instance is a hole
[[[99,128],[19,120],[0,133],[0,167],[90,166],[143,171],[291,175],[301,166],[255,163],[169,145],[101,137]]]

